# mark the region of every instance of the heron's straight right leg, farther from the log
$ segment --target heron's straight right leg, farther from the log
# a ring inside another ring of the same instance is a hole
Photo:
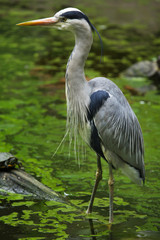
[[[114,191],[114,178],[112,172],[112,165],[109,163],[109,223],[113,222],[113,191]]]

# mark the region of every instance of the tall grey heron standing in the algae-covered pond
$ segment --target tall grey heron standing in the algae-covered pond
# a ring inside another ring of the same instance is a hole
[[[53,26],[70,30],[75,47],[66,69],[67,127],[97,154],[97,173],[87,213],[102,179],[101,158],[109,165],[109,222],[113,222],[112,169],[121,169],[133,182],[145,180],[144,146],[140,124],[118,86],[104,77],[87,81],[84,65],[93,42],[95,27],[77,8],[66,8],[53,17],[19,23],[20,26]],[[96,30],[97,31],[97,30]]]

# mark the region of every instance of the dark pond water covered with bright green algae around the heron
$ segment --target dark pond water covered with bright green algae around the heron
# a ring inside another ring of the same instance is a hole
[[[79,155],[75,157],[74,144],[70,147],[68,138],[54,154],[65,134],[64,74],[74,39],[67,32],[15,25],[47,17],[52,9],[56,11],[70,4],[0,0],[0,151],[13,153],[26,172],[54,191],[67,195],[73,203],[72,206],[38,200],[1,190],[0,239],[160,239],[160,95],[155,90],[144,96],[132,96],[124,86],[149,85],[149,80],[118,77],[132,62],[157,57],[160,52],[158,19],[155,18],[154,31],[148,31],[140,19],[124,24],[124,18],[122,25],[114,19],[112,24],[111,19],[104,16],[104,10],[103,16],[98,17],[96,5],[90,8],[87,6],[90,1],[85,2],[83,5],[72,1],[72,5],[86,9],[93,17],[103,36],[105,54],[104,61],[100,62],[99,40],[95,35],[86,76],[111,77],[130,102],[144,136],[146,183],[143,187],[136,186],[121,172],[114,172],[114,224],[109,230],[108,166],[103,161],[103,180],[93,213],[85,214],[94,184],[95,154],[80,143]],[[127,12],[124,2],[128,7],[133,1],[123,1],[119,12],[127,18],[131,9],[126,8]],[[152,11],[158,8],[158,1],[134,2],[140,8],[152,6]],[[110,6],[110,2],[107,3]],[[100,4],[97,7],[100,8]]]

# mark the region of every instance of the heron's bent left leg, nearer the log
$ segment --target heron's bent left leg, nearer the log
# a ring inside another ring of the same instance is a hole
[[[96,181],[95,181],[95,185],[93,187],[93,191],[92,191],[92,195],[90,198],[90,202],[89,202],[89,206],[88,209],[86,211],[86,213],[91,213],[92,212],[92,207],[93,207],[93,202],[94,202],[94,197],[96,195],[96,191],[98,188],[98,184],[102,179],[102,165],[101,165],[101,158],[99,155],[97,155],[97,172],[96,172]]]

